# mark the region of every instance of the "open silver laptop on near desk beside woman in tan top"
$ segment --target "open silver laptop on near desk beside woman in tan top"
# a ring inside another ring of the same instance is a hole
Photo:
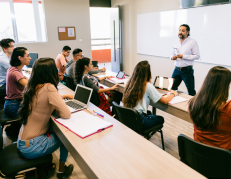
[[[87,109],[88,103],[91,99],[92,90],[92,88],[86,86],[76,86],[74,99],[65,101],[71,113]]]

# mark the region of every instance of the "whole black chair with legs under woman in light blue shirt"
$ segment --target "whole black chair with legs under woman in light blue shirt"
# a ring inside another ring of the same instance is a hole
[[[163,124],[155,125],[149,129],[144,130],[140,115],[135,109],[119,106],[114,101],[112,102],[112,104],[113,108],[115,108],[116,118],[130,129],[134,130],[138,134],[143,135],[148,140],[153,136],[153,134],[155,134],[156,132],[160,132],[162,148],[163,150],[165,150],[162,132]]]

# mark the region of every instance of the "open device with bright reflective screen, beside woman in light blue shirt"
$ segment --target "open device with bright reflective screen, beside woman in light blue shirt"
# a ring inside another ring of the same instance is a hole
[[[174,82],[174,78],[156,76],[153,85],[155,86],[155,88],[158,90],[160,94],[166,95],[168,92],[172,90],[173,82]]]

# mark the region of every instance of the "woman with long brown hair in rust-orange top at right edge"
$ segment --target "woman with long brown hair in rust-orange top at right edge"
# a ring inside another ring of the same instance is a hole
[[[231,100],[227,102],[230,84],[230,70],[213,67],[200,91],[189,101],[196,141],[231,149]]]

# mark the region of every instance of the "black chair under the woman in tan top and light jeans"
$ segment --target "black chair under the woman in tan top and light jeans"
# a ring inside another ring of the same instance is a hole
[[[15,178],[22,173],[52,164],[52,154],[36,159],[25,159],[17,149],[17,144],[6,146],[0,155],[0,176],[2,178]]]

